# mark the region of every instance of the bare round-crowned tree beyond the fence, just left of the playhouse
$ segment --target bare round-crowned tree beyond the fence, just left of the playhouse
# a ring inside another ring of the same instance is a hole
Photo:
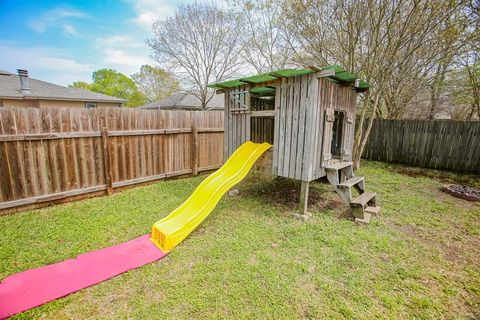
[[[239,66],[238,19],[215,4],[180,6],[175,15],[153,24],[148,40],[154,59],[180,76],[205,108],[208,85],[236,73]]]

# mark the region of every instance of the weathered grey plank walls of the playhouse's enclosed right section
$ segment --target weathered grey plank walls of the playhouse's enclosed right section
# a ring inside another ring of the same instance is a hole
[[[323,152],[330,152],[331,132],[325,132],[325,112],[344,111],[343,159],[351,159],[356,92],[315,75],[283,78],[275,98],[274,173],[311,181],[325,175]],[[331,131],[331,128],[330,128]],[[325,148],[328,148],[325,150]],[[346,151],[346,152],[345,152]],[[348,152],[350,151],[350,152]]]

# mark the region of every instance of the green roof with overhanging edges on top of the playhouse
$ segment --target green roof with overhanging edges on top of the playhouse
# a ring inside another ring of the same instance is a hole
[[[209,87],[214,89],[229,89],[229,88],[237,87],[243,84],[259,84],[263,82],[276,80],[278,78],[302,76],[306,74],[315,73],[316,70],[319,70],[319,69],[335,70],[335,75],[331,76],[330,78],[339,82],[350,82],[358,79],[358,77],[355,74],[345,71],[345,69],[343,69],[342,67],[338,65],[331,65],[331,66],[325,66],[325,67],[313,68],[313,69],[280,69],[277,71],[262,73],[262,74],[258,74],[250,77],[212,83],[209,85]],[[261,88],[267,88],[267,87],[261,87]],[[358,86],[358,89],[364,91],[364,90],[367,90],[368,88],[369,88],[368,83],[363,80],[360,80],[360,85]],[[255,89],[259,89],[259,88],[255,88]],[[251,92],[254,92],[253,90]],[[255,93],[260,93],[260,92],[257,91]]]

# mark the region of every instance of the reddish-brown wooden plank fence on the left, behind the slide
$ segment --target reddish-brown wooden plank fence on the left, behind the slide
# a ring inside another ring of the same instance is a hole
[[[2,108],[0,213],[215,169],[223,131],[220,111]]]

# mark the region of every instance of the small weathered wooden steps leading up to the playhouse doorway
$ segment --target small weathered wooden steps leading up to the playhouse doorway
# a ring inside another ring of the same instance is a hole
[[[367,224],[372,216],[380,213],[376,193],[365,191],[365,178],[356,177],[352,162],[337,162],[326,167],[327,179],[342,201],[350,207],[356,223]],[[353,190],[359,195],[353,197]]]

